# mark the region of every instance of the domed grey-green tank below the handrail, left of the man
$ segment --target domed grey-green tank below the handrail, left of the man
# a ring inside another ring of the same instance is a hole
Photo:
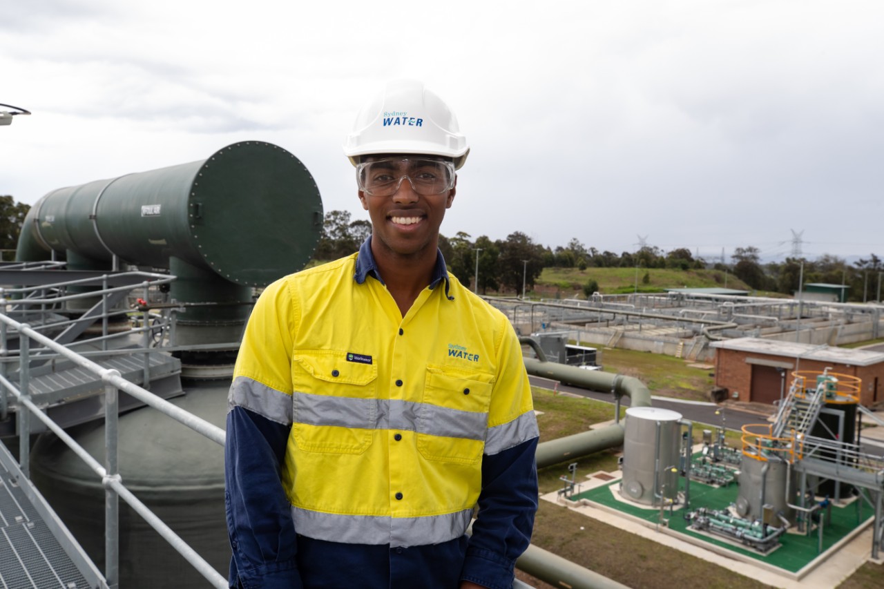
[[[225,426],[228,380],[194,381],[171,399],[181,409]],[[104,462],[104,425],[68,430]],[[119,417],[123,484],[187,544],[227,576],[231,548],[224,502],[224,448],[149,407]],[[54,434],[31,451],[31,477],[100,570],[104,569],[104,490],[101,478]],[[141,516],[119,502],[120,587],[209,587]]]

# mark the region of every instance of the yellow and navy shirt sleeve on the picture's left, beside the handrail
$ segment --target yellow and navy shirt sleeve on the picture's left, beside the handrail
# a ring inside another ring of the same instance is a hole
[[[231,587],[301,588],[280,471],[292,424],[291,303],[268,287],[249,318],[228,395],[225,508]]]

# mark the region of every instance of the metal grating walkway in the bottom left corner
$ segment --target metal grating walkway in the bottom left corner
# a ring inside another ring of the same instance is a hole
[[[0,443],[0,586],[107,587],[80,545]]]

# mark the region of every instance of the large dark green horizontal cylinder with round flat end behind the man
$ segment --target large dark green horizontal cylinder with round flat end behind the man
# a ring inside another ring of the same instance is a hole
[[[28,212],[17,259],[55,250],[168,268],[175,257],[258,287],[300,270],[322,226],[304,164],[271,143],[240,142],[202,161],[50,192]]]

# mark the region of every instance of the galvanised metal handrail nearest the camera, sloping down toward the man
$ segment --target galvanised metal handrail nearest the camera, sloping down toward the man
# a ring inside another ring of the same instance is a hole
[[[7,331],[8,327],[17,330],[22,337],[19,342],[19,387],[16,387],[9,379],[6,378],[4,372],[6,364],[2,364],[3,370],[0,371],[0,385],[3,388],[3,400],[5,402],[5,392],[9,390],[19,401],[19,411],[17,417],[19,419],[19,467],[26,478],[30,478],[28,463],[30,461],[30,416],[39,419],[52,432],[54,432],[65,445],[70,447],[72,451],[80,456],[87,463],[89,468],[95,471],[102,478],[102,484],[105,489],[105,582],[110,586],[118,585],[119,582],[119,528],[118,528],[118,500],[122,498],[126,501],[151,527],[165,539],[171,547],[182,555],[202,577],[206,578],[212,585],[218,589],[227,587],[227,580],[218,574],[217,570],[198,555],[193,548],[179,537],[178,534],[172,532],[171,528],[166,525],[156,514],[154,514],[144,503],[131,493],[120,478],[117,469],[117,420],[118,420],[118,391],[125,391],[141,402],[157,409],[164,415],[175,419],[181,424],[187,425],[195,432],[198,432],[212,441],[221,444],[225,443],[225,432],[216,425],[212,425],[200,417],[196,417],[188,413],[184,409],[171,404],[170,402],[160,399],[155,394],[151,394],[148,390],[141,386],[134,385],[126,379],[123,379],[118,371],[105,369],[101,365],[88,360],[84,356],[80,356],[76,352],[57,344],[46,336],[34,331],[29,325],[19,323],[18,321],[7,317],[4,312],[0,312],[0,356],[8,355],[7,348]],[[30,399],[29,386],[29,363],[30,357],[30,340],[34,340],[50,348],[60,356],[64,356],[73,363],[85,368],[88,371],[100,376],[104,382],[104,398],[105,398],[105,445],[106,459],[105,466],[95,461],[88,452],[74,441],[60,426],[58,426],[50,417],[43,413],[42,409],[37,407]],[[147,382],[147,381],[145,381]],[[24,409],[24,410],[22,410]]]

